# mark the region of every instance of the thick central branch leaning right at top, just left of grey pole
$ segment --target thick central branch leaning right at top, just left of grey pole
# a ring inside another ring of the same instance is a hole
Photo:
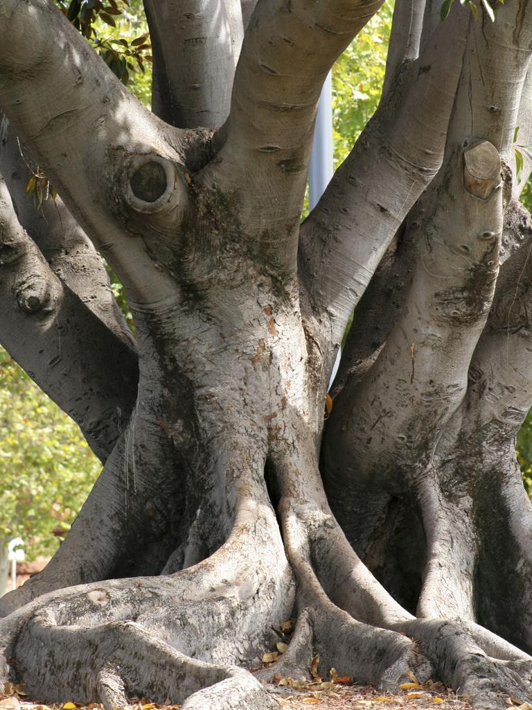
[[[294,272],[323,81],[381,4],[259,0],[245,33],[226,143],[204,179],[234,195],[244,239],[282,273]]]

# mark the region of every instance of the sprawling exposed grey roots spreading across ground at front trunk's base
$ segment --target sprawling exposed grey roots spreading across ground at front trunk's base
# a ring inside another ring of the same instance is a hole
[[[412,617],[323,501],[282,497],[279,516],[295,600],[272,509],[243,499],[228,541],[194,567],[53,591],[4,618],[1,679],[46,701],[98,700],[109,710],[142,695],[190,710],[273,709],[259,680],[308,676],[318,654],[323,677],[336,667],[390,691],[411,674],[432,677],[487,709],[532,699],[531,657],[474,623]],[[279,661],[257,677],[235,667],[272,648],[294,601],[296,628]]]

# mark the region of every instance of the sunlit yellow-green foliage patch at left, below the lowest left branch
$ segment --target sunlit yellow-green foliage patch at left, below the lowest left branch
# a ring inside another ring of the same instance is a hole
[[[0,539],[22,537],[29,559],[51,555],[100,469],[77,425],[0,348]]]

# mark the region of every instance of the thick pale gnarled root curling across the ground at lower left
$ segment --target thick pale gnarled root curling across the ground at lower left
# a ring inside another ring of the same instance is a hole
[[[272,509],[242,499],[228,541],[194,567],[53,591],[2,619],[2,679],[46,701],[108,709],[131,695],[182,703],[191,694],[194,708],[275,707],[232,666],[272,643],[293,590]]]

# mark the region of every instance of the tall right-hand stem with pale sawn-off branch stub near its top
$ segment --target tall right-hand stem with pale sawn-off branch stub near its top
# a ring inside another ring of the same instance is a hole
[[[512,40],[518,10],[500,12],[499,31],[472,26],[445,165],[411,215],[416,266],[401,317],[363,381],[348,383],[335,401],[323,445],[331,491],[345,471],[360,472],[353,486],[369,485],[372,476],[378,486],[381,470],[429,467],[443,425],[467,392],[499,266],[505,196],[499,153],[511,149],[509,126],[528,64]],[[489,58],[493,45],[497,59]],[[490,106],[500,114],[492,121]]]

